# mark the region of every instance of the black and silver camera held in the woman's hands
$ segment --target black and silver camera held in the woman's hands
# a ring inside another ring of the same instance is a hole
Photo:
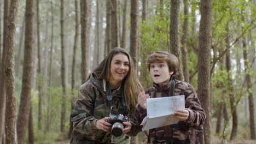
[[[111,133],[117,137],[123,134],[123,129],[125,128],[125,125],[123,125],[123,122],[129,122],[129,120],[127,116],[124,116],[120,113],[118,115],[114,115],[112,113],[112,106],[111,106],[108,122],[112,124]]]

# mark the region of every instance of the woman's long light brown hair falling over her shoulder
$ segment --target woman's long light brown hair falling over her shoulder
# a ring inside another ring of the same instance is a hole
[[[137,96],[140,92],[143,91],[143,87],[141,86],[141,83],[139,83],[137,76],[134,73],[132,58],[126,50],[120,47],[115,47],[112,51],[108,53],[108,55],[95,68],[95,70],[92,71],[92,73],[97,73],[100,79],[105,79],[106,81],[109,81],[110,64],[112,58],[119,53],[123,53],[129,59],[129,71],[122,83],[124,83],[124,96],[127,107],[130,111],[133,111],[136,109]]]

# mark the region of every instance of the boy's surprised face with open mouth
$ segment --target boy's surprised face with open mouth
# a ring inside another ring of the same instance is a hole
[[[150,64],[150,75],[155,83],[168,83],[170,81],[172,72],[166,62],[157,62]]]

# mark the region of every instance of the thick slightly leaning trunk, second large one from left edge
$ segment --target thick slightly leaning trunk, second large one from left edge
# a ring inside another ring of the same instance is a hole
[[[26,130],[28,127],[28,117],[31,101],[31,80],[33,68],[33,4],[32,0],[26,1],[26,29],[24,47],[24,67],[22,75],[22,89],[20,97],[20,109],[17,123],[17,133],[19,144],[25,143]]]

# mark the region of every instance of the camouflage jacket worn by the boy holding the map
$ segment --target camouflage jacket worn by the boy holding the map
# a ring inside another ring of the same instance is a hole
[[[186,121],[149,130],[148,143],[204,143],[202,124],[205,121],[205,111],[202,109],[195,89],[187,82],[175,80],[174,95],[185,95],[185,109],[189,111]],[[150,98],[169,97],[170,83],[164,83],[161,87],[154,83],[153,87],[146,90]],[[137,105],[135,117],[138,123],[147,116],[147,110]],[[156,134],[156,136],[155,136]],[[157,139],[157,140],[155,140]],[[167,142],[166,142],[167,143]]]

